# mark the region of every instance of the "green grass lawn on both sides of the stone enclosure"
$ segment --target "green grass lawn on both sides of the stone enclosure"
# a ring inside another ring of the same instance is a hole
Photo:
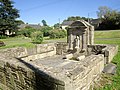
[[[31,43],[29,38],[9,38],[1,39],[4,41],[6,46],[1,48],[10,48],[10,47],[34,47],[34,44]],[[53,39],[49,40],[44,38],[43,43],[48,42],[58,42],[66,41],[66,38],[63,39]],[[109,31],[95,31],[95,43],[96,44],[116,44],[119,45],[118,54],[114,57],[113,63],[117,65],[117,72],[115,75],[105,75],[102,74],[102,79],[99,85],[96,85],[94,90],[120,90],[120,30],[109,30]]]

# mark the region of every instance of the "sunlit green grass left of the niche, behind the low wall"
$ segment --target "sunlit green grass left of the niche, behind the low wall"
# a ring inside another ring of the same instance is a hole
[[[66,38],[60,38],[60,39],[49,39],[49,37],[44,37],[44,43],[54,43],[54,42],[64,42],[66,41]],[[14,38],[7,38],[7,39],[0,39],[0,41],[3,41],[6,46],[0,47],[0,49],[5,48],[13,48],[13,47],[27,47],[31,48],[34,47],[35,44],[32,43],[30,38],[25,37],[14,37]]]

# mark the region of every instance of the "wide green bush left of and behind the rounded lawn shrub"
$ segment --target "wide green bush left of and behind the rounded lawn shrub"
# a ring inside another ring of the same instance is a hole
[[[35,32],[36,29],[32,27],[25,27],[24,29],[21,29],[20,31],[17,32],[17,35],[24,35],[25,37],[30,37],[31,33]]]

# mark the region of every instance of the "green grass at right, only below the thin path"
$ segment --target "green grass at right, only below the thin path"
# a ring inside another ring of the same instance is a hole
[[[113,59],[113,63],[117,65],[117,72],[115,75],[110,75],[109,78],[103,77],[104,79],[111,78],[111,84],[105,83],[103,86],[95,90],[120,90],[120,39],[112,40],[95,40],[97,44],[116,44],[119,45],[119,50],[117,55]]]

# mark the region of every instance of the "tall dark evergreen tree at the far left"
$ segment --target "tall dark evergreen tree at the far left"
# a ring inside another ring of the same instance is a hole
[[[0,0],[0,31],[5,34],[6,30],[14,31],[17,29],[19,18],[18,10],[13,6],[11,0]]]

